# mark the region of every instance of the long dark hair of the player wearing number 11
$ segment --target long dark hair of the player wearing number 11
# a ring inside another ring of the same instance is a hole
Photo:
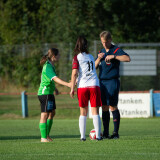
[[[87,43],[87,39],[84,36],[79,36],[74,48],[74,53],[78,54],[81,52],[86,52],[88,54]]]

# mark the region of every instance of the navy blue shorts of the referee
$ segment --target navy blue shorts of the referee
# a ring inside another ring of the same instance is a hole
[[[102,105],[117,106],[120,89],[119,79],[100,80]]]

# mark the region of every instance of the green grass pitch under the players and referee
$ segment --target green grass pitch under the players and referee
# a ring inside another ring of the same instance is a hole
[[[87,120],[85,142],[80,141],[78,119],[55,119],[50,143],[40,142],[38,123],[37,119],[0,120],[0,159],[160,159],[160,118],[122,119],[120,139],[99,142],[89,139],[91,119]]]

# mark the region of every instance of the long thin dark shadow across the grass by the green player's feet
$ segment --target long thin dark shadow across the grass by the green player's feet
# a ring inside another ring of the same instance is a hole
[[[51,135],[51,138],[79,138],[80,135]],[[0,140],[40,139],[40,136],[1,136]]]

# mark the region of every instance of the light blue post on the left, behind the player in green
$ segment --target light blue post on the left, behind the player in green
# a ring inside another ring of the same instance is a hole
[[[21,102],[22,102],[22,116],[23,118],[28,117],[28,104],[27,104],[27,95],[26,91],[21,93]]]

